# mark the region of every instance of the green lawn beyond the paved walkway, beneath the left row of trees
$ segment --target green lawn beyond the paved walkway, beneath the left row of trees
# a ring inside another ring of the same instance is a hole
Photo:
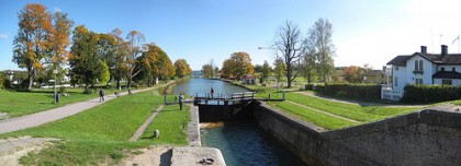
[[[105,94],[113,94],[112,90],[104,90]],[[10,92],[0,90],[0,112],[7,112],[9,117],[20,117],[67,104],[97,98],[98,93],[83,94],[83,88],[66,88],[69,96],[59,96],[59,103],[53,104],[53,88],[33,90],[32,92]]]

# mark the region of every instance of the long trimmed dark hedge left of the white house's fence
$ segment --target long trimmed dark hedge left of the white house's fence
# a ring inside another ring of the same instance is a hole
[[[352,97],[363,99],[381,99],[381,85],[371,84],[326,84],[306,85],[307,90],[314,90],[324,95],[336,97]]]

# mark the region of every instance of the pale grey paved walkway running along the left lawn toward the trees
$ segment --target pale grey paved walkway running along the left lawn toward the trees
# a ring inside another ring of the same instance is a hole
[[[165,86],[165,85],[161,85],[161,86]],[[132,93],[135,94],[135,93],[149,91],[149,90],[154,90],[158,87],[160,86],[144,88],[144,90],[135,90],[135,91],[132,91]],[[120,93],[120,96],[127,95],[127,94],[128,92],[123,92],[123,93]],[[114,94],[106,95],[105,102],[111,100],[113,98],[116,98]],[[95,107],[103,103],[100,103],[99,97],[98,97],[98,98],[93,98],[86,102],[66,105],[59,108],[54,108],[54,109],[49,109],[45,111],[40,111],[40,112],[22,116],[22,117],[2,120],[0,121],[0,133],[7,133],[11,131],[18,131],[18,130],[32,128],[32,127],[37,127],[47,122],[52,122],[58,119],[63,119],[63,118],[76,115],[80,111],[87,110],[89,108]]]

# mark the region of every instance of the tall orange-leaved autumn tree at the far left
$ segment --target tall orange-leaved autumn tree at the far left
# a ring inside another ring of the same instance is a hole
[[[13,59],[20,68],[27,69],[29,90],[36,73],[46,64],[65,63],[72,21],[67,14],[50,14],[46,7],[30,3],[19,14],[19,29],[13,42]],[[56,67],[54,67],[56,69]]]

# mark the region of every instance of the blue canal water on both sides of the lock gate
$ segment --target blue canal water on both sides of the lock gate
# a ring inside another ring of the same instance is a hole
[[[176,93],[245,92],[247,90],[218,80],[191,79],[175,87]],[[304,165],[300,158],[282,146],[255,121],[226,122],[224,126],[201,129],[202,145],[216,147],[226,165],[279,166]]]

